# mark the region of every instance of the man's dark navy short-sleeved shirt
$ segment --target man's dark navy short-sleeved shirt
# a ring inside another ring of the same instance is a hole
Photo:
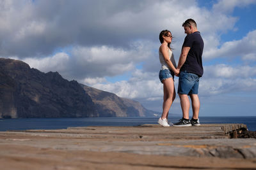
[[[188,56],[180,71],[187,71],[188,73],[194,73],[198,76],[202,76],[204,68],[202,64],[202,54],[204,50],[204,41],[200,35],[200,32],[196,31],[192,34],[188,34],[184,40],[182,48],[184,46],[190,47]]]

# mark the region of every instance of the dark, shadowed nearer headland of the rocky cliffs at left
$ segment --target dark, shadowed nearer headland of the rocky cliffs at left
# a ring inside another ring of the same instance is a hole
[[[97,117],[77,81],[42,73],[20,60],[0,59],[0,117]]]

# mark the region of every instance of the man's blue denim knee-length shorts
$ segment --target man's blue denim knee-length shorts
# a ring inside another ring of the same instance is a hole
[[[180,72],[178,94],[198,94],[199,78],[193,73]]]

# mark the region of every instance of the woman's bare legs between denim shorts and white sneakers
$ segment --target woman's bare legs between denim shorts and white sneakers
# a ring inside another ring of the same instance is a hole
[[[168,112],[172,106],[172,102],[175,99],[175,88],[172,78],[163,80],[163,89],[164,89],[164,101],[163,101],[163,113],[162,119],[168,118]]]

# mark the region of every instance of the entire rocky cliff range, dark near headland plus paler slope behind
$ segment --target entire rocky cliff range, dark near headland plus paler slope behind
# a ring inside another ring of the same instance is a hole
[[[140,103],[0,58],[0,118],[144,117]]]

